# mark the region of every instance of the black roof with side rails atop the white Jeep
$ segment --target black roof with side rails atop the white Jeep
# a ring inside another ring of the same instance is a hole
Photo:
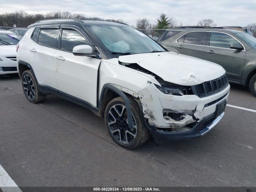
[[[123,26],[127,25],[124,23],[108,22],[108,21],[94,21],[94,20],[79,20],[79,19],[49,19],[49,20],[39,20],[34,24],[28,26],[28,28],[42,25],[51,24],[78,24],[78,25],[116,25]]]

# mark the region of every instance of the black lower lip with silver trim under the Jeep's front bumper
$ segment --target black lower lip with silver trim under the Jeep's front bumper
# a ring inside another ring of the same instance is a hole
[[[214,126],[220,122],[223,116],[224,112],[222,112],[222,114],[217,117],[215,117],[215,113],[211,114],[200,122],[196,123],[196,125],[191,130],[180,132],[163,132],[158,130],[156,126],[147,125],[156,143],[164,144],[171,141],[188,140],[203,136],[212,128],[214,128]]]

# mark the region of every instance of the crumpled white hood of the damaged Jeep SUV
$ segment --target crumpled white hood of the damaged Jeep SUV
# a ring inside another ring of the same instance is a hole
[[[119,62],[137,63],[167,82],[185,86],[216,79],[226,72],[213,62],[174,52],[119,56]]]

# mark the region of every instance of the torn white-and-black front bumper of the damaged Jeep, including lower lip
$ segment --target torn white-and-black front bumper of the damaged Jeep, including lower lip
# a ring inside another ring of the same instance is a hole
[[[164,94],[149,84],[140,91],[140,101],[152,136],[157,143],[203,136],[222,119],[229,90],[230,85],[199,98]]]

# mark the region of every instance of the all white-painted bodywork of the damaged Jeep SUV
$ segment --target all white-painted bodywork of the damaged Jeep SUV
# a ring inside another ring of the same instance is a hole
[[[112,59],[95,59],[75,56],[53,48],[41,46],[30,39],[34,28],[30,28],[20,41],[18,61],[29,63],[38,84],[50,86],[71,96],[84,100],[96,107],[97,70],[99,68],[99,95],[105,84],[112,84],[126,94],[130,94],[142,105],[144,118],[150,125],[161,128],[182,127],[195,122],[187,115],[182,121],[166,120],[163,110],[194,110],[200,120],[212,114],[216,105],[228,99],[230,86],[224,90],[199,98],[196,95],[173,96],[160,92],[160,83],[154,76],[119,64],[137,63],[165,81],[183,86],[192,86],[219,78],[225,70],[214,63],[178,55],[173,52],[158,52],[120,56]],[[204,108],[204,105],[224,96],[220,101]]]

